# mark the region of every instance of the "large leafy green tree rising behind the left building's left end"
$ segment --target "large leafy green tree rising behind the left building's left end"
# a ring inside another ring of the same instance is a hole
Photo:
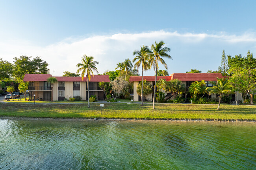
[[[48,63],[43,61],[40,57],[20,56],[20,58],[14,59],[14,71],[13,76],[19,82],[22,82],[25,74],[48,74],[49,69],[47,68]]]

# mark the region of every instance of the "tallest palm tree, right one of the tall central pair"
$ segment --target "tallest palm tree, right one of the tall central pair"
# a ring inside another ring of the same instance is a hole
[[[163,64],[165,69],[167,69],[167,64],[165,63],[162,57],[173,59],[170,55],[167,54],[167,52],[169,52],[171,49],[168,47],[163,47],[164,44],[165,43],[163,41],[160,41],[160,42],[155,41],[155,45],[152,44],[151,46],[152,54],[150,55],[151,56],[150,65],[154,66],[154,70],[156,71],[156,79],[157,79],[158,60]],[[155,84],[156,84],[156,80],[155,80]],[[156,86],[154,88],[153,109],[155,109],[155,97],[156,97]]]

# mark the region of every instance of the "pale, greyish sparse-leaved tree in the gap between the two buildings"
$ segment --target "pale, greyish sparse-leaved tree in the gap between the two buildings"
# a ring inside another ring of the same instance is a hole
[[[112,90],[116,94],[115,99],[120,95],[125,95],[128,90],[128,82],[122,77],[117,77],[115,80],[110,81],[109,83],[112,86]]]

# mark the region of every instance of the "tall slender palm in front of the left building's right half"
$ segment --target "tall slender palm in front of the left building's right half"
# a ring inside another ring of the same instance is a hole
[[[99,64],[97,61],[93,61],[94,57],[87,55],[83,55],[82,63],[78,63],[76,67],[78,67],[76,73],[81,72],[81,77],[83,80],[84,75],[87,75],[87,89],[88,89],[88,108],[90,107],[90,100],[89,100],[89,80],[91,80],[91,75],[93,75],[93,71],[98,73],[98,69],[96,68],[96,64]],[[80,68],[79,68],[80,67]],[[94,75],[93,75],[94,76]]]

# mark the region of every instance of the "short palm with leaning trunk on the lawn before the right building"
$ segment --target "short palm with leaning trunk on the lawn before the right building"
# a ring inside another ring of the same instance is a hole
[[[206,90],[209,91],[209,95],[211,94],[219,94],[219,105],[221,104],[221,98],[224,94],[231,93],[232,85],[228,82],[228,79],[225,78],[217,78],[217,82],[210,81],[213,84],[213,87],[208,87]],[[217,110],[219,110],[219,105]]]

